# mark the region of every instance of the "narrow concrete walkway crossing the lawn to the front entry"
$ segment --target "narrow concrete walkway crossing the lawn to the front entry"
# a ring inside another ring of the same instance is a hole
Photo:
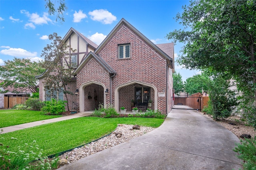
[[[84,117],[84,116],[88,116],[91,114],[92,114],[92,111],[84,111],[84,112],[76,113],[74,115],[67,115],[67,116],[57,117],[57,118],[53,118],[53,119],[34,121],[34,122],[24,123],[24,124],[20,124],[20,125],[14,125],[14,126],[10,126],[10,127],[2,127],[0,129],[3,129],[2,133],[8,133],[8,132],[18,131],[20,129],[24,129],[24,128],[28,128],[28,127],[34,127],[34,126],[38,126],[38,125],[44,125],[47,123],[53,123],[53,122],[63,121],[63,120],[68,120],[68,119],[74,119],[74,118],[78,118],[78,117]]]

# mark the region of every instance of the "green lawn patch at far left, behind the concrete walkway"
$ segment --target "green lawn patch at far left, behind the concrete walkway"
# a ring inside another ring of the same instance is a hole
[[[34,110],[0,110],[0,128],[61,117],[62,115],[41,115]]]

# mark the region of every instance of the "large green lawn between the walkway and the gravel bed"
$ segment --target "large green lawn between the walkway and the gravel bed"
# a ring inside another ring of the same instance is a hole
[[[9,145],[9,150],[17,152],[18,146],[24,146],[25,143],[28,143],[29,146],[33,140],[36,140],[39,148],[43,149],[43,156],[49,156],[107,135],[116,129],[117,124],[159,127],[163,121],[164,119],[142,117],[80,117],[0,134],[0,143]],[[10,142],[11,137],[18,140]]]

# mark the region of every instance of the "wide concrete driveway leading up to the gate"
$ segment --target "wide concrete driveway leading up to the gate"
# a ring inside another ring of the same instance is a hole
[[[235,143],[233,133],[201,113],[171,111],[154,131],[59,170],[238,170]]]

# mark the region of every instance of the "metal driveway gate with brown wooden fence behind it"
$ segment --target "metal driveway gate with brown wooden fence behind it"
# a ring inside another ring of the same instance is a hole
[[[179,110],[198,110],[201,111],[200,96],[174,96],[172,97],[172,109]]]

